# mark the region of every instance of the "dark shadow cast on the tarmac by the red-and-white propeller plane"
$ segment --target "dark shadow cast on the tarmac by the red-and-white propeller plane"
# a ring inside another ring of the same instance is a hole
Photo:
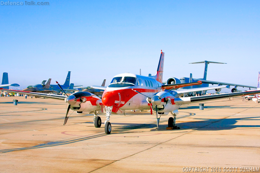
[[[201,120],[201,121],[193,121],[193,122],[181,122],[176,123],[176,126],[180,127],[180,130],[183,129],[199,129],[199,130],[230,130],[234,128],[250,128],[250,127],[260,127],[260,125],[236,125],[238,121],[243,120],[257,120],[256,118],[260,117],[243,117],[243,118],[229,118],[229,119],[194,119],[194,120]],[[160,122],[167,122],[168,120],[163,120]],[[86,122],[92,123],[93,122]],[[102,123],[103,124],[103,123]],[[126,130],[126,129],[147,129],[147,128],[156,128],[157,125],[154,124],[138,124],[138,123],[111,123],[112,127],[116,129]],[[119,125],[119,127],[115,126]],[[121,127],[123,126],[123,127]],[[151,129],[151,131],[165,131],[167,124],[159,124],[159,129]],[[176,131],[176,130],[173,130]]]

